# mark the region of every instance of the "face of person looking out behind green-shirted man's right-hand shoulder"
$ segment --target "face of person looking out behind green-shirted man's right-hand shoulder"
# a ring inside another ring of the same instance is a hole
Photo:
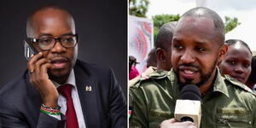
[[[230,49],[224,60],[218,65],[222,75],[229,74],[241,83],[246,83],[251,73],[252,54],[246,46],[236,43]]]

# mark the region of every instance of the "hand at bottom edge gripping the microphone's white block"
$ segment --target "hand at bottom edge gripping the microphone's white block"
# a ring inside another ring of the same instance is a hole
[[[190,121],[178,122],[176,119],[164,120],[160,128],[196,128],[195,124]]]

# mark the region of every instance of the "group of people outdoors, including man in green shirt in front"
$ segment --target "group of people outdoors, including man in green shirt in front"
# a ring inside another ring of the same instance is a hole
[[[200,127],[256,127],[256,56],[224,34],[219,15],[202,7],[161,26],[147,61],[156,70],[130,85],[130,127],[195,127],[174,119],[187,84],[201,91]]]

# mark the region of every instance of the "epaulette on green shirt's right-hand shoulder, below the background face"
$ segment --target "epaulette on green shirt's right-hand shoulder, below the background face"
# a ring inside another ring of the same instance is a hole
[[[234,79],[232,77],[230,77],[230,75],[224,75],[225,79],[227,79],[231,84],[234,84],[238,87],[240,87],[242,90],[245,90],[247,92],[252,93],[254,96],[256,96],[256,94],[253,92],[253,90],[251,90],[249,87],[247,87],[247,85],[242,84],[240,81],[238,81],[237,79]]]

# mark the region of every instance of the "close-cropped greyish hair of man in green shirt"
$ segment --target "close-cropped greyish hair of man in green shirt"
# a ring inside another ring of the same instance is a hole
[[[213,24],[215,26],[215,31],[217,32],[217,36],[220,39],[219,44],[224,44],[224,22],[220,18],[220,16],[214,12],[212,9],[207,9],[204,7],[197,7],[194,9],[189,9],[185,14],[182,15],[183,17],[195,17],[195,18],[207,18],[213,20]],[[181,19],[182,19],[181,18]]]

